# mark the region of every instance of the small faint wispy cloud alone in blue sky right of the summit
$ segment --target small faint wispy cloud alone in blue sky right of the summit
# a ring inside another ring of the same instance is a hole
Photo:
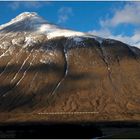
[[[65,23],[73,15],[73,10],[70,7],[61,7],[58,10],[58,23]]]

